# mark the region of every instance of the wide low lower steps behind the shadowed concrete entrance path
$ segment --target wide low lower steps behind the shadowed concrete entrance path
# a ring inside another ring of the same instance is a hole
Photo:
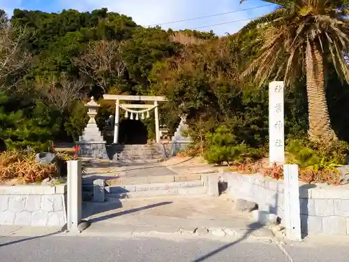
[[[93,201],[93,180],[82,180],[84,201]],[[155,196],[188,196],[207,194],[205,175],[154,175],[147,177],[117,177],[105,182],[106,201],[120,198]]]

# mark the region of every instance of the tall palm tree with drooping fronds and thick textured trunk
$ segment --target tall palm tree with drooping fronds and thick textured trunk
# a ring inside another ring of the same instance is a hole
[[[245,0],[242,0],[242,2]],[[349,82],[348,0],[262,0],[279,5],[272,15],[260,18],[262,48],[243,76],[255,72],[255,80],[265,82],[273,73],[284,75],[289,86],[306,75],[309,108],[309,138],[336,140],[326,102],[325,71],[331,60],[341,80]],[[269,17],[269,18],[268,18]],[[270,19],[270,17],[272,17]]]

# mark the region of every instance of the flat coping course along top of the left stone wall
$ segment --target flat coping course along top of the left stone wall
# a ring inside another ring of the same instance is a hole
[[[0,195],[55,195],[66,194],[66,184],[41,185],[19,184],[15,186],[0,186]]]

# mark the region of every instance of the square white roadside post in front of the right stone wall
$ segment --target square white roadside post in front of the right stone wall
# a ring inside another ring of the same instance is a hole
[[[283,165],[285,189],[285,228],[290,240],[301,241],[301,214],[299,208],[298,165]]]

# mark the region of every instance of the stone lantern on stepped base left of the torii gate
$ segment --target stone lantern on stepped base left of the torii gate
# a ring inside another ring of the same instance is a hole
[[[91,101],[86,103],[87,115],[89,116],[89,122],[82,132],[82,136],[79,137],[77,145],[79,145],[81,157],[94,157],[98,159],[106,159],[107,152],[105,148],[105,140],[101,131],[99,131],[96,124],[98,103],[94,100],[94,96],[91,97]]]

